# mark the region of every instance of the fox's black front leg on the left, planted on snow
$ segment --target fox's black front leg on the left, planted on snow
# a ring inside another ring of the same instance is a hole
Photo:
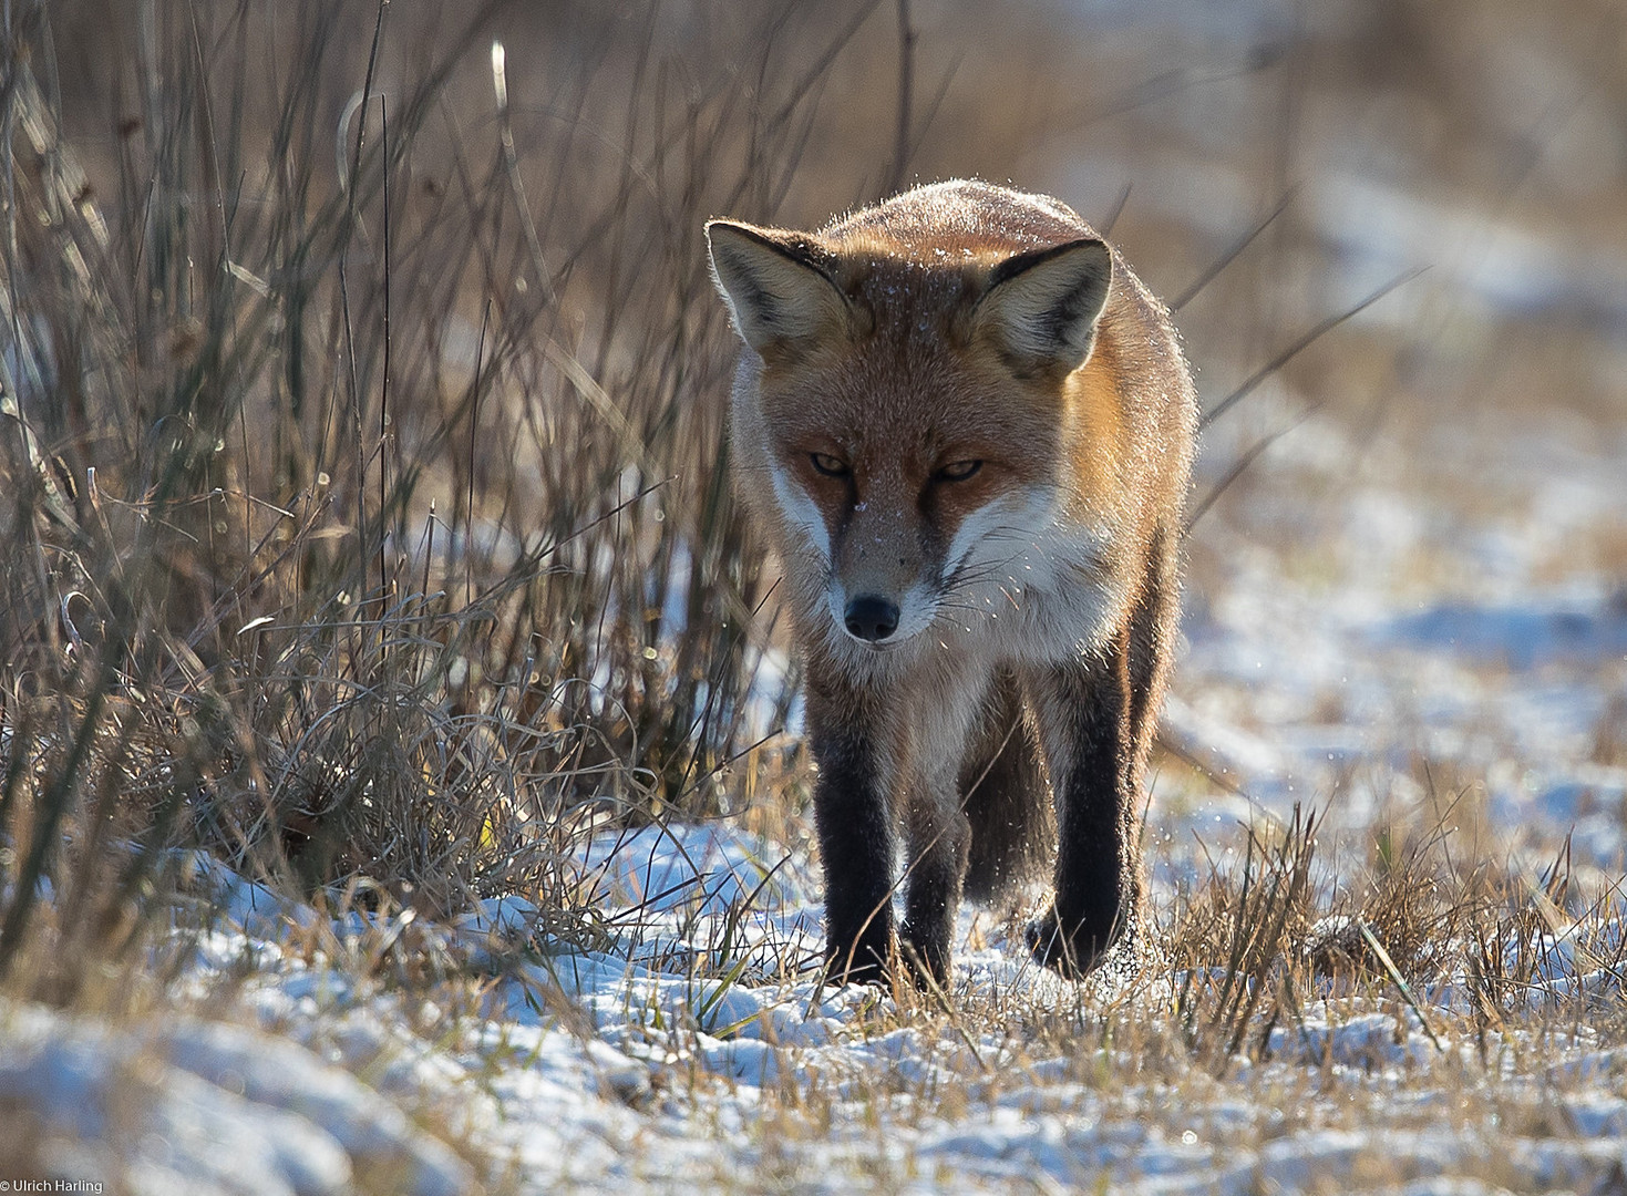
[[[867,695],[809,679],[818,781],[814,818],[825,867],[825,963],[835,983],[885,980],[893,950],[892,760]]]

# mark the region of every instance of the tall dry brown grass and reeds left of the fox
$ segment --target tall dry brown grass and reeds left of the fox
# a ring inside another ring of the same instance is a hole
[[[794,679],[700,236],[797,177],[815,31],[680,80],[651,8],[539,101],[501,7],[103,18],[112,142],[67,135],[44,10],[7,39],[0,971],[39,877],[129,919],[116,841],[449,911],[561,901],[595,810],[735,809]]]

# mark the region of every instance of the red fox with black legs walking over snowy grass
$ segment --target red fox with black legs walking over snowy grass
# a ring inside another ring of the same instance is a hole
[[[1197,430],[1168,309],[1061,200],[978,181],[706,239],[802,664],[823,975],[945,986],[962,900],[1046,859],[1032,957],[1139,970]]]

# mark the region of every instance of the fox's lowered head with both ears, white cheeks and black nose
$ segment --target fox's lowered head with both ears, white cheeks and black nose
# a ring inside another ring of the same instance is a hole
[[[1012,249],[708,225],[750,350],[737,467],[840,641],[887,649],[970,604],[1020,605],[1036,553],[1075,522],[1072,478],[1101,430],[1074,392],[1113,257],[1069,231]]]

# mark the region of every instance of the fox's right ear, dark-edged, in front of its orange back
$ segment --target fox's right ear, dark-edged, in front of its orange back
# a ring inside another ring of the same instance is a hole
[[[1111,283],[1113,255],[1093,236],[1017,254],[994,267],[973,327],[1019,373],[1071,374],[1090,356]]]

